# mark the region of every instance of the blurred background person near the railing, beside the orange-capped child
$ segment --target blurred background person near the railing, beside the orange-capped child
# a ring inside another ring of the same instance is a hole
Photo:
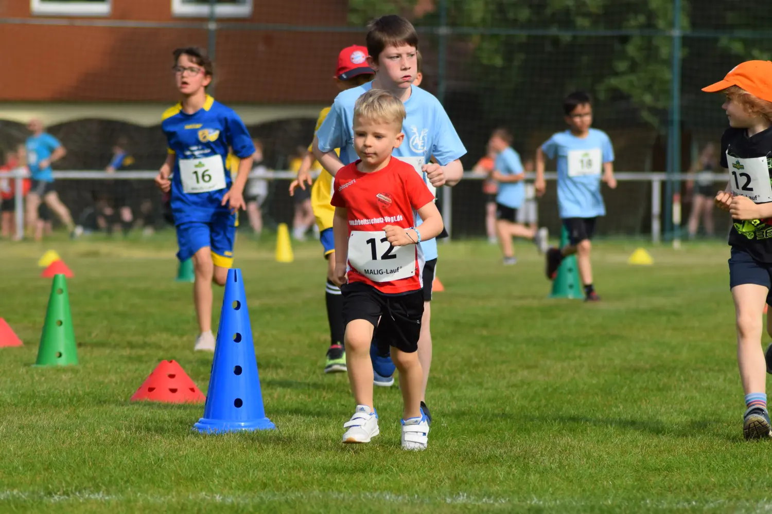
[[[692,164],[689,173],[696,173],[694,180],[686,182],[686,194],[692,197],[692,212],[689,213],[689,239],[697,237],[699,218],[703,218],[705,233],[713,236],[713,198],[716,197],[716,188],[713,186],[712,173],[719,169],[716,145],[708,143],[699,153],[696,163]]]

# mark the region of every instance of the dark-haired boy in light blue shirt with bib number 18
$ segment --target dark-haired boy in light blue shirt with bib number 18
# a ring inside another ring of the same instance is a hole
[[[572,92],[563,101],[568,130],[554,133],[536,152],[536,187],[546,190],[544,156],[557,160],[557,207],[568,231],[568,244],[547,251],[547,277],[552,280],[564,257],[577,254],[577,267],[584,284],[585,301],[598,301],[592,285],[590,250],[595,220],[606,214],[601,181],[611,189],[614,178],[614,149],[602,130],[592,129],[592,99],[586,92]]]

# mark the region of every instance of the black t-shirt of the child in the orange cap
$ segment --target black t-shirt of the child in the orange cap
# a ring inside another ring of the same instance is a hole
[[[751,137],[747,136],[746,129],[726,129],[721,136],[721,167],[730,170],[730,180],[735,180],[731,175],[732,168],[727,162],[726,155],[739,157],[740,159],[753,159],[754,157],[767,157],[767,167],[770,170],[770,183],[772,183],[772,127]],[[733,163],[733,166],[736,166]],[[738,185],[743,186],[743,178],[740,176]],[[737,249],[747,251],[754,260],[763,263],[772,263],[772,218],[764,220],[733,220],[734,227],[729,234],[729,244]]]

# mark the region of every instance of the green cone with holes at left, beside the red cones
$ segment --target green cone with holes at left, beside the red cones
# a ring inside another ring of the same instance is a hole
[[[73,317],[69,313],[69,295],[64,275],[54,275],[46,310],[46,324],[40,336],[36,366],[78,364]]]

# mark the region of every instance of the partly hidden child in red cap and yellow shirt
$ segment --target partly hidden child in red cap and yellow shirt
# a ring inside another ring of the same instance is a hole
[[[338,54],[338,66],[335,73],[335,84],[341,90],[351,89],[370,82],[373,79],[374,72],[370,66],[367,66],[367,48],[364,46],[353,45],[344,48]],[[322,126],[327,114],[330,113],[330,107],[325,107],[319,113],[317,119],[316,133]],[[300,164],[300,170],[297,173],[297,179],[289,185],[289,194],[292,196],[297,186],[306,189],[306,183],[311,183],[309,170],[314,165],[311,146],[308,147],[308,154],[303,158]],[[337,153],[340,150],[336,149]],[[330,204],[333,197],[333,176],[322,170],[316,182],[311,187],[311,208],[313,216],[317,218],[317,227],[320,231],[320,241],[324,250],[324,258],[327,259],[327,284],[324,287],[327,300],[327,321],[330,323],[330,348],[327,348],[327,359],[324,364],[325,373],[337,373],[346,371],[346,354],[344,352],[344,332],[346,326],[343,318],[343,297],[340,295],[340,288],[333,281],[335,272],[335,244],[333,238],[333,217],[335,207]]]

